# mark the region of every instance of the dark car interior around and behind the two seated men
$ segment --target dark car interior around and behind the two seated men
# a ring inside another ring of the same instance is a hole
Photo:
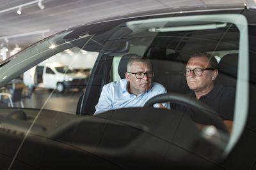
[[[138,42],[138,38],[129,39],[131,46],[125,54],[117,53],[113,56],[99,53],[84,94],[85,97],[81,97],[77,104],[77,115],[93,115],[95,108],[92,106],[97,104],[100,93],[90,92],[100,92],[106,83],[118,80],[115,79],[115,74],[118,74],[119,79],[125,78],[127,60],[134,54],[150,60],[155,73],[153,80],[161,83],[168,92],[179,94],[191,92],[183,71],[189,55],[193,52],[207,52],[216,56],[219,61],[219,76],[216,83],[236,87],[239,49],[239,37],[236,33],[237,29],[234,26],[229,26],[228,30],[225,27],[204,31],[181,31],[179,33],[159,32],[150,38],[140,40],[140,42]],[[149,40],[150,44],[145,44],[145,41],[148,42]],[[143,41],[142,44],[141,41]],[[140,44],[137,45],[136,43]],[[141,48],[141,46],[145,46],[145,48]],[[120,61],[118,66],[114,65],[116,58]],[[82,99],[83,106],[81,107]]]

